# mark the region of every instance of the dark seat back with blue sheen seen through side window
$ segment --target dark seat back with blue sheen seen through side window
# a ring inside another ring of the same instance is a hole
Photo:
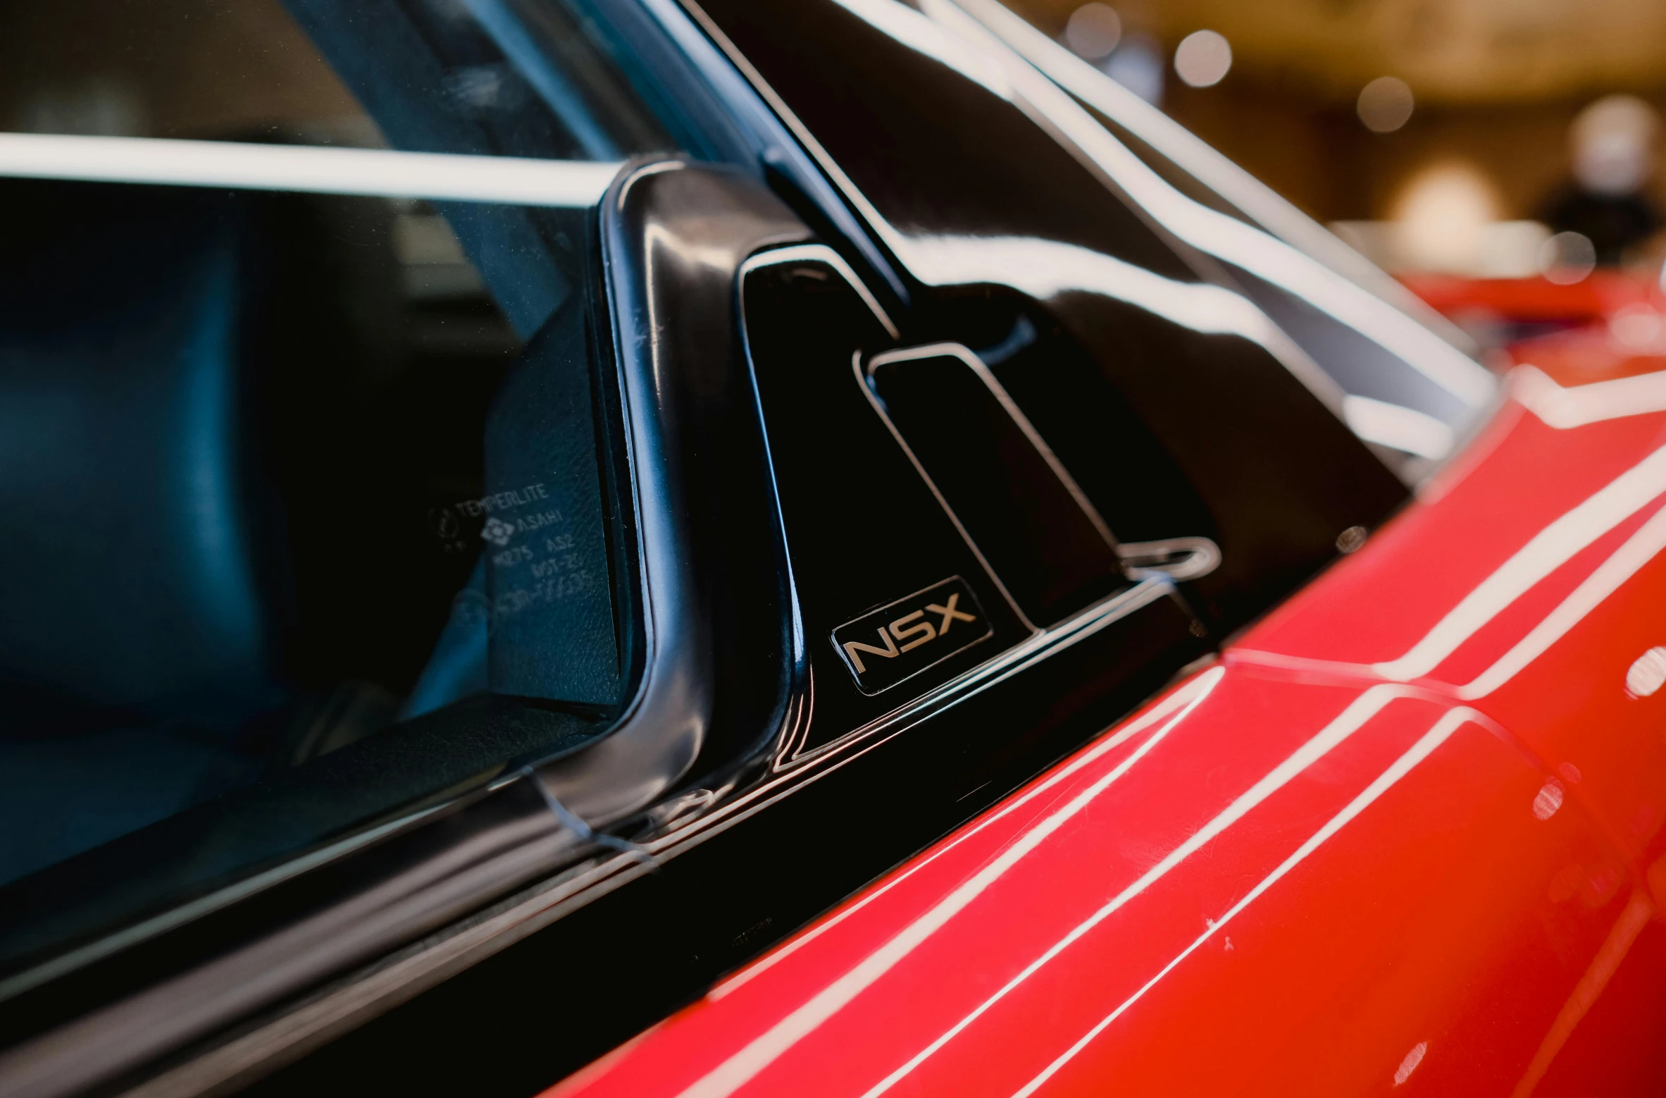
[[[268,690],[268,626],[243,487],[238,203],[5,193],[40,232],[8,230],[0,268],[0,678],[93,706],[247,706]]]

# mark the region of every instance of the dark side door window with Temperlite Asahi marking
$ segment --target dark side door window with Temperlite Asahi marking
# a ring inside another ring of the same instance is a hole
[[[0,978],[605,726],[591,207],[683,143],[608,48],[508,0],[0,12]],[[506,205],[408,152],[600,163]]]

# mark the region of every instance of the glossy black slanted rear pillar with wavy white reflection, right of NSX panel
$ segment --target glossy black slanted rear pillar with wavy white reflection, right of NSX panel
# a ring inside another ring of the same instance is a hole
[[[701,8],[913,278],[908,342],[975,352],[1116,542],[1218,547],[1185,583],[1216,633],[1406,498],[1346,390],[1208,250],[1256,235],[1231,252],[1254,265],[1278,242],[1175,192],[961,8]]]

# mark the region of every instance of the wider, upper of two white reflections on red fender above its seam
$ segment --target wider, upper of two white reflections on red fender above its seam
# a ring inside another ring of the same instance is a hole
[[[1453,606],[1406,655],[1376,663],[1373,670],[1394,681],[1409,681],[1428,675],[1533,585],[1568,563],[1574,553],[1636,515],[1661,492],[1666,492],[1666,447],[1633,465],[1601,492],[1544,527],[1479,586],[1464,595],[1463,601]]]

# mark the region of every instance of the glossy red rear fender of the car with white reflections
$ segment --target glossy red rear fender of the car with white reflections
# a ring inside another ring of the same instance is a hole
[[[553,1093],[1659,1093],[1666,410],[1523,402],[1220,663]]]

